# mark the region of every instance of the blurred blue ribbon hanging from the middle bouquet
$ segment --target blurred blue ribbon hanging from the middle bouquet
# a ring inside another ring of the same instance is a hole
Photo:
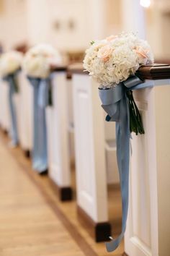
[[[47,127],[45,107],[48,106],[48,87],[50,79],[27,77],[34,90],[34,139],[32,166],[42,173],[48,168]]]

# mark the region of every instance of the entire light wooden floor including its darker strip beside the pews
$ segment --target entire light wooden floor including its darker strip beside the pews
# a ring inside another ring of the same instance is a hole
[[[107,253],[104,243],[95,243],[77,219],[76,202],[59,202],[48,177],[7,143],[0,132],[1,256],[122,255],[123,244]]]

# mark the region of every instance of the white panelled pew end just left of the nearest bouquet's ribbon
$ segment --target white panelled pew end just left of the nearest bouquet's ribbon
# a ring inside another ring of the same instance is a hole
[[[97,83],[73,74],[76,193],[79,207],[95,222],[108,221],[104,115]]]

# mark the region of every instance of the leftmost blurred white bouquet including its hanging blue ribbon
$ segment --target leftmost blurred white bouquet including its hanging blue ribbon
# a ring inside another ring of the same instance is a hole
[[[12,137],[11,145],[18,144],[17,117],[14,105],[14,93],[18,93],[17,73],[22,64],[22,54],[19,51],[9,51],[0,57],[0,75],[9,85],[9,110],[11,116],[10,135]]]

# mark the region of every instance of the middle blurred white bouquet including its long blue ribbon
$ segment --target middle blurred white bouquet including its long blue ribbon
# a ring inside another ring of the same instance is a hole
[[[39,173],[48,168],[45,107],[53,105],[50,74],[53,66],[58,64],[61,64],[58,51],[48,44],[39,44],[27,51],[22,65],[34,90],[32,164]]]

